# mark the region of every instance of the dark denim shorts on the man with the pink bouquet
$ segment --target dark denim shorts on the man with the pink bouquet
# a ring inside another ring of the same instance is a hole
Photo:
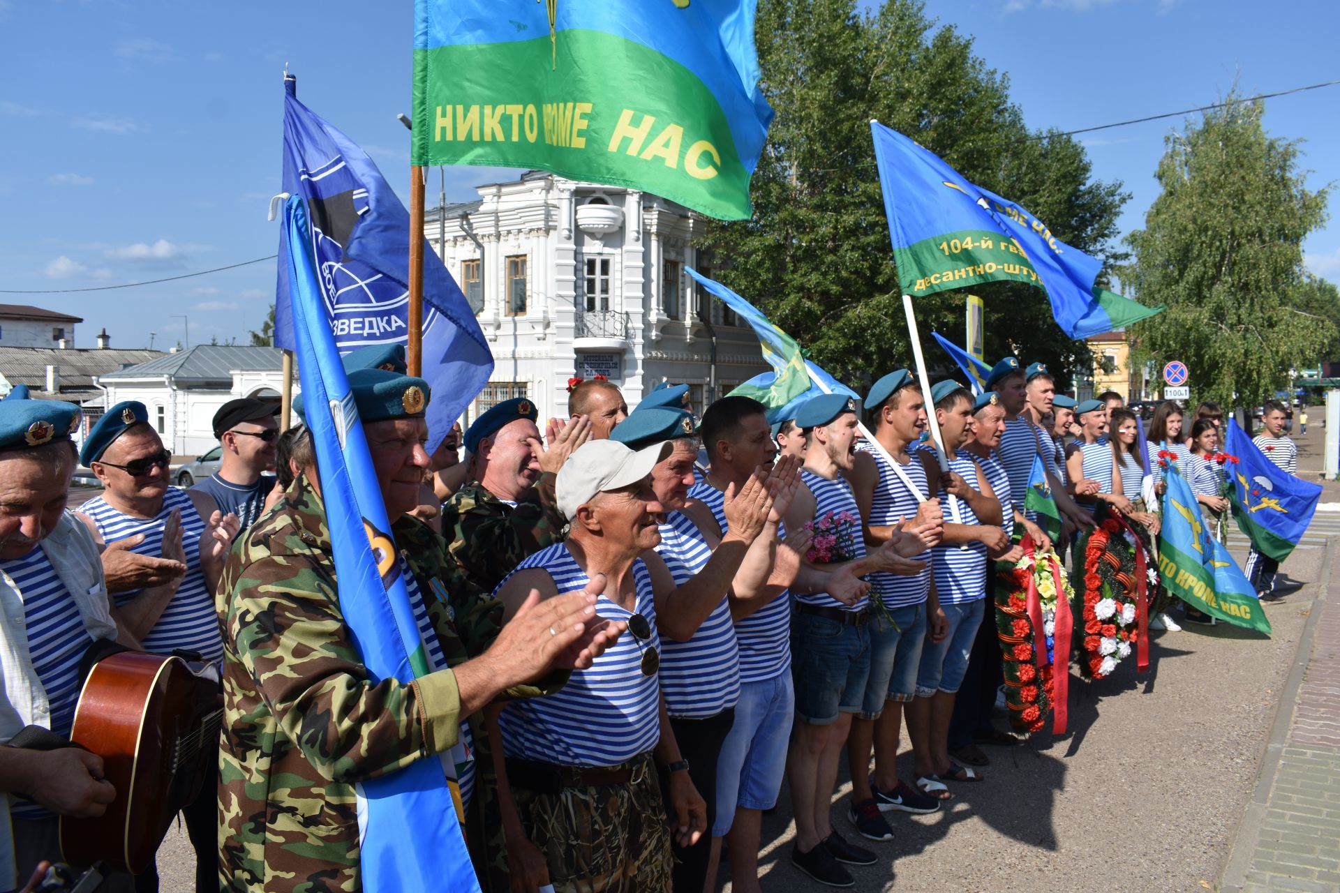
[[[791,624],[796,716],[828,726],[859,714],[870,676],[870,629],[796,611]]]

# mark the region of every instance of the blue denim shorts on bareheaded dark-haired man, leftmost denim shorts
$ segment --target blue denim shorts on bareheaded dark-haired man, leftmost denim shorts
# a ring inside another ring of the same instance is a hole
[[[736,724],[730,727],[717,758],[717,819],[713,837],[725,837],[736,807],[765,810],[777,805],[777,791],[787,774],[787,742],[796,695],[791,673],[740,683]]]

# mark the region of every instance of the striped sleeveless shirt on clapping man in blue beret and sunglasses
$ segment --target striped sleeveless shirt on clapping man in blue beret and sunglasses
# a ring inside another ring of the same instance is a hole
[[[214,597],[205,588],[205,573],[200,566],[200,536],[205,532],[205,521],[196,510],[196,503],[185,490],[168,487],[163,505],[153,518],[135,518],[113,509],[106,499],[96,497],[79,506],[79,510],[92,518],[102,541],[118,542],[137,533],[145,534],[145,541],[131,549],[142,556],[162,554],[163,527],[174,510],[181,511],[181,548],[186,553],[186,576],[177,586],[172,601],[163,608],[158,623],[149,635],[139,640],[145,651],[170,655],[174,649],[200,652],[205,660],[217,661],[224,656],[224,639],[218,629],[218,613],[214,611]],[[118,592],[113,596],[117,606],[139,597],[141,589]]]

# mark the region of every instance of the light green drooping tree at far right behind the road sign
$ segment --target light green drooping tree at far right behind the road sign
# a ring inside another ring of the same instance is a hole
[[[1128,237],[1136,296],[1167,307],[1136,324],[1142,352],[1186,361],[1197,398],[1226,407],[1272,396],[1290,366],[1336,337],[1335,289],[1309,284],[1302,268],[1327,189],[1305,187],[1298,145],[1266,135],[1264,111],[1233,102],[1170,135],[1156,173],[1163,191]],[[1300,296],[1321,312],[1296,307]]]

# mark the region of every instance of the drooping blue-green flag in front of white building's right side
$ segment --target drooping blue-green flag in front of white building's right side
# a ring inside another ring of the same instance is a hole
[[[772,372],[753,376],[733,390],[729,396],[749,396],[758,400],[768,407],[768,422],[773,424],[795,418],[800,404],[812,396],[820,394],[856,396],[855,391],[805,359],[796,340],[777,328],[757,307],[698,270],[686,269],[694,281],[753,328],[754,335],[758,336],[758,345],[762,348],[762,359],[772,367]]]

